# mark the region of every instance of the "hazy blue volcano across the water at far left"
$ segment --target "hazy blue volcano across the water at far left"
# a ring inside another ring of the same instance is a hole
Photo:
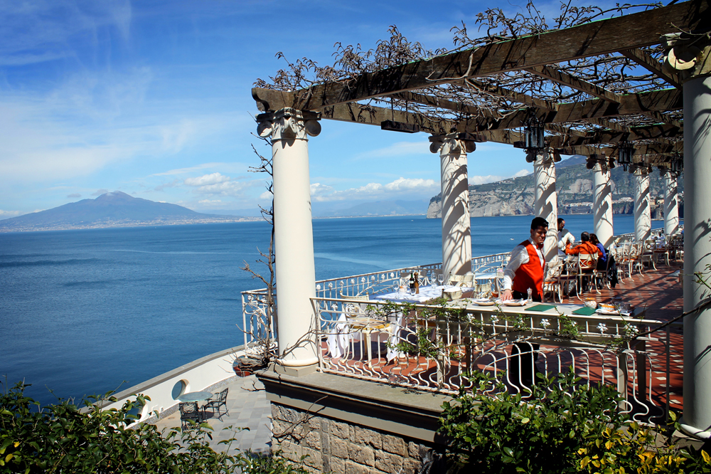
[[[177,204],[134,198],[121,191],[114,191],[102,194],[96,199],[82,199],[46,211],[4,219],[0,221],[0,231],[47,231],[243,220],[254,218],[201,214]]]

